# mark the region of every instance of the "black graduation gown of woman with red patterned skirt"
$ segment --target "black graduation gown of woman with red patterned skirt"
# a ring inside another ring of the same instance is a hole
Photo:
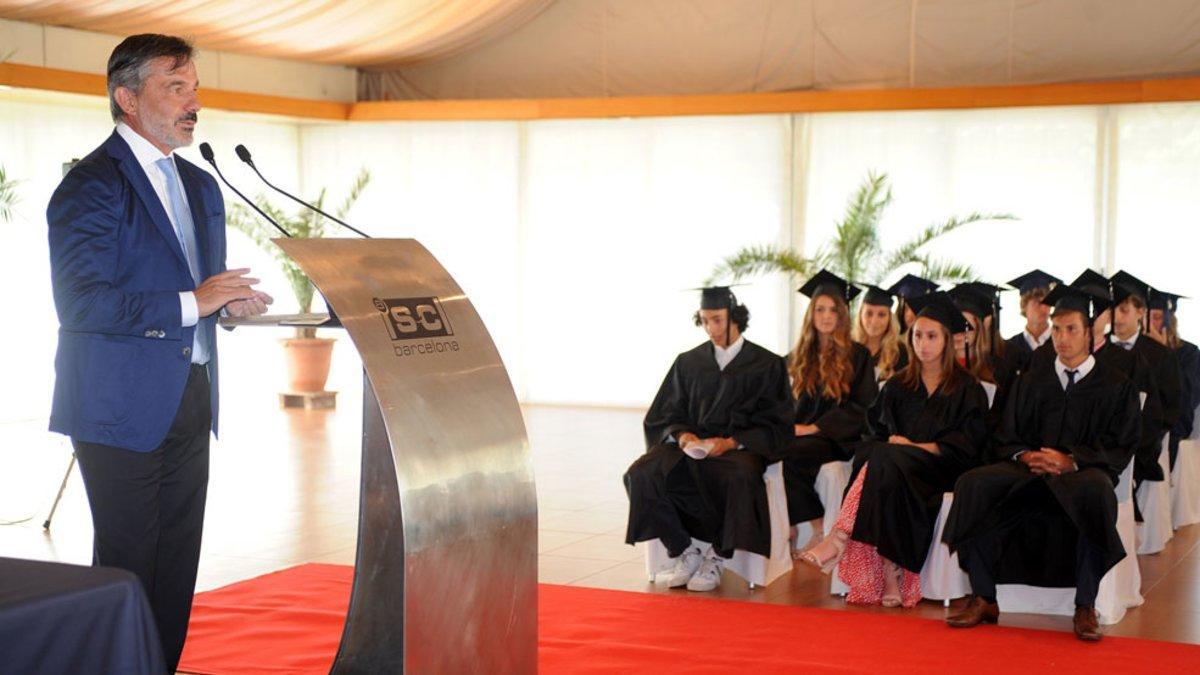
[[[955,390],[932,396],[924,386],[910,389],[892,378],[866,413],[869,440],[860,450],[866,477],[851,538],[913,573],[929,555],[942,495],[986,456],[988,395],[973,377],[964,377]],[[937,443],[940,454],[888,443],[893,435]]]

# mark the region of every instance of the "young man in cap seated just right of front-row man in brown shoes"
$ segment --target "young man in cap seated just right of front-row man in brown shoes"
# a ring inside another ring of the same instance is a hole
[[[1109,280],[1112,288],[1112,334],[1111,340],[1126,351],[1140,354],[1150,364],[1150,371],[1158,389],[1162,404],[1162,426],[1158,430],[1158,442],[1180,422],[1182,414],[1182,384],[1180,383],[1180,360],[1175,352],[1153,339],[1141,339],[1150,317],[1147,301],[1150,286],[1126,271],[1118,271]],[[1154,448],[1150,456],[1138,456],[1134,465],[1134,489],[1142,480],[1165,480],[1163,467],[1158,464],[1160,448]],[[1139,514],[1140,515],[1140,514]]]

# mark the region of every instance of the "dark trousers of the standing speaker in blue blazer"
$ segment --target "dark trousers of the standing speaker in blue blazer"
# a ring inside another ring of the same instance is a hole
[[[92,563],[128,569],[142,580],[168,673],[184,651],[196,592],[210,408],[208,372],[193,365],[179,412],[154,452],[72,440],[91,506]]]

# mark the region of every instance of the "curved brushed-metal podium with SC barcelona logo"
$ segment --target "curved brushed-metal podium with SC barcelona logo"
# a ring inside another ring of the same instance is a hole
[[[275,243],[362,357],[359,545],[332,673],[536,671],[533,465],[484,323],[413,239]]]

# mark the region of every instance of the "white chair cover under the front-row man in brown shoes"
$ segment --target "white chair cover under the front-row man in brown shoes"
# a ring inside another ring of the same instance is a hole
[[[1096,596],[1096,610],[1100,623],[1105,626],[1121,621],[1126,610],[1140,605],[1141,571],[1138,568],[1138,556],[1134,555],[1136,540],[1133,515],[1133,461],[1130,460],[1121,479],[1117,482],[1117,532],[1126,556],[1100,579],[1100,589]],[[1001,611],[1026,614],[1057,614],[1072,616],[1075,613],[1075,589],[1044,589],[1021,584],[1001,584],[996,586],[996,601]]]

